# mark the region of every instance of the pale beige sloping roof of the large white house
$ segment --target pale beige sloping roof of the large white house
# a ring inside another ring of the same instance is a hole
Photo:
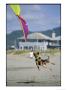
[[[44,34],[42,34],[42,33],[32,33],[32,34],[29,34],[27,38],[28,38],[28,39],[45,39],[45,40],[52,40],[51,37],[46,36],[46,35],[44,35]],[[24,39],[24,36],[23,36],[23,37],[20,37],[20,38],[18,38],[18,39]]]

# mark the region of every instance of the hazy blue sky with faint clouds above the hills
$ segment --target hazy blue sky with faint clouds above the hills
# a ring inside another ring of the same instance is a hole
[[[21,16],[26,20],[29,31],[45,31],[60,26],[60,5],[20,5]],[[7,5],[7,33],[22,30],[17,16]]]

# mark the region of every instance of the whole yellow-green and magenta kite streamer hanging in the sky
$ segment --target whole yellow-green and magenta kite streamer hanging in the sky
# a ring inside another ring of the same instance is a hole
[[[29,30],[28,30],[28,25],[27,25],[26,21],[24,20],[23,17],[20,16],[20,5],[10,5],[10,7],[12,8],[13,12],[18,17],[18,19],[21,23],[21,27],[23,29],[25,41],[26,41]]]

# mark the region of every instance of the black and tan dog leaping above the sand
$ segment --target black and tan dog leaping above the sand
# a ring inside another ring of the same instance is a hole
[[[37,53],[33,53],[34,57],[35,57],[35,62],[36,62],[36,65],[37,65],[37,68],[39,69],[39,66],[43,66],[43,65],[46,65],[47,63],[49,63],[49,56],[48,58],[46,59],[42,59],[40,56],[39,56],[39,52]]]

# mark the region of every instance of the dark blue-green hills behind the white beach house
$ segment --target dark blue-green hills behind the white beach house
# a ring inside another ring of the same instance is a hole
[[[50,37],[52,36],[52,32],[55,32],[56,36],[59,36],[59,35],[61,35],[61,28],[57,27],[57,28],[53,28],[52,30],[39,31],[39,32],[43,33],[47,36],[50,36]],[[29,33],[33,33],[33,32],[29,32]],[[13,31],[13,32],[7,34],[6,35],[7,49],[9,49],[12,45],[15,45],[17,38],[22,37],[22,36],[23,36],[23,33],[21,30]]]

